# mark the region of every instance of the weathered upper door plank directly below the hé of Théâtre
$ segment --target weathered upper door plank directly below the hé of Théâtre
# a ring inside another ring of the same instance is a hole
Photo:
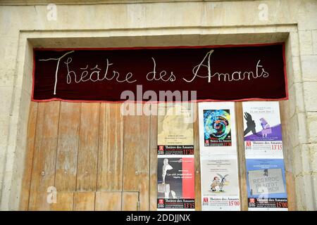
[[[58,192],[76,190],[79,128],[80,103],[61,102],[55,177]]]

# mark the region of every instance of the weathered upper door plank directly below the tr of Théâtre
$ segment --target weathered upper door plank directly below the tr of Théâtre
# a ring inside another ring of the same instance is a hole
[[[120,103],[101,103],[98,191],[122,191],[123,115]]]

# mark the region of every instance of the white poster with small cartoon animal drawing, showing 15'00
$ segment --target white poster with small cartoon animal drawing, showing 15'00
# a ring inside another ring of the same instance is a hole
[[[235,155],[201,156],[201,210],[240,210]]]

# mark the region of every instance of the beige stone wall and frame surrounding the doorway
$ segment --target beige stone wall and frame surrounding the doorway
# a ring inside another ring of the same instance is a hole
[[[317,210],[317,1],[0,1],[0,209],[18,210],[33,47],[286,44],[285,162]],[[267,8],[266,13],[263,8]],[[264,14],[263,14],[264,13]]]

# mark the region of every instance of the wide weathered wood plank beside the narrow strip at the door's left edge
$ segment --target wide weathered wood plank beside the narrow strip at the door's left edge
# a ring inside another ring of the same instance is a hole
[[[39,103],[29,210],[50,210],[47,188],[54,186],[60,102]]]

